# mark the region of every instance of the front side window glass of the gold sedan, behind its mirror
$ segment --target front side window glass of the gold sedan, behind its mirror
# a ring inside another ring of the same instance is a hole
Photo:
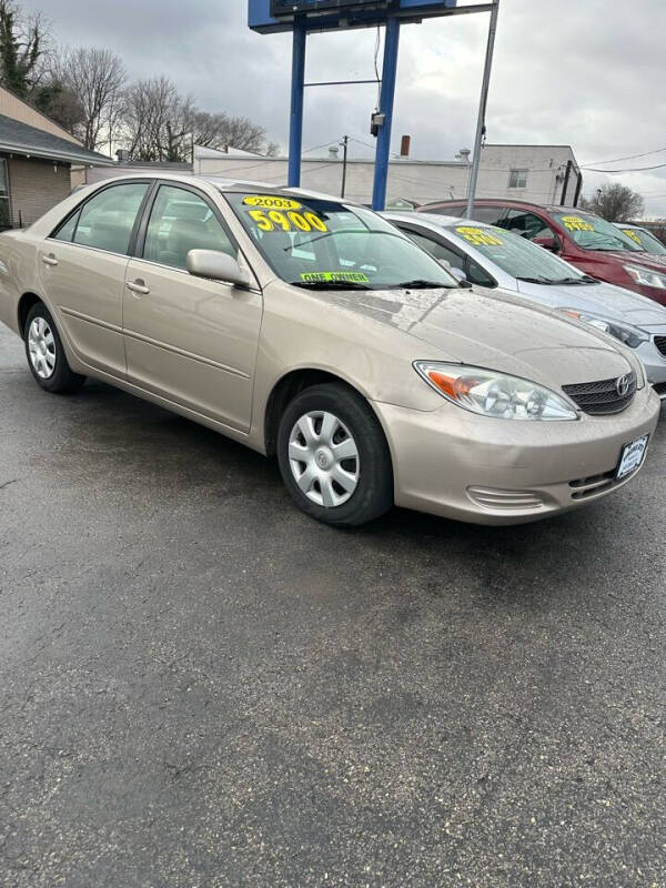
[[[234,259],[238,255],[203,198],[182,188],[162,185],[150,214],[143,259],[186,269],[190,250],[216,250]]]

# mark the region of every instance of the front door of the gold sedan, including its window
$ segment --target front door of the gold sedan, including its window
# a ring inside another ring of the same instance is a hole
[[[142,389],[248,432],[262,296],[256,290],[189,274],[190,250],[239,255],[206,196],[186,186],[162,184],[141,255],[127,269],[128,377]]]

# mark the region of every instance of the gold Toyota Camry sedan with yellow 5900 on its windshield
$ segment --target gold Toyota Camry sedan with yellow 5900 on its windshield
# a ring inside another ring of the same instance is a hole
[[[78,191],[0,235],[0,320],[47,392],[95,377],[276,456],[334,525],[581,506],[636,475],[659,410],[616,340],[460,285],[363,206],[265,184]]]

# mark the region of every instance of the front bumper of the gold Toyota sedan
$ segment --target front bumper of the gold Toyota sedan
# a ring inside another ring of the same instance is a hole
[[[393,457],[395,504],[475,524],[519,524],[624,486],[625,444],[655,431],[649,386],[620,414],[572,422],[491,420],[444,403],[422,412],[374,402]]]

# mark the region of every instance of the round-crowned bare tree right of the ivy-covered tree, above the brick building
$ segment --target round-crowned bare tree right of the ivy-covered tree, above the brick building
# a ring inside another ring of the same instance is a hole
[[[83,119],[73,132],[85,148],[95,151],[109,143],[122,110],[127,82],[125,69],[118,56],[108,49],[67,49],[54,60],[51,74],[83,108]]]

